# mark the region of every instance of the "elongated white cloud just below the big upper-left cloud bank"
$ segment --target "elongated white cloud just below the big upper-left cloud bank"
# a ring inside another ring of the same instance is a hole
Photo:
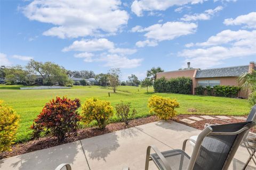
[[[81,51],[81,52],[96,52],[105,49],[114,48],[114,43],[106,38],[92,39],[92,40],[81,40],[74,41],[68,47],[62,49],[63,52],[68,52],[70,50]]]

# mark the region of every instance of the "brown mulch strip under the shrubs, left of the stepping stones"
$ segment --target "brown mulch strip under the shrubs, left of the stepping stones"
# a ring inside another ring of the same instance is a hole
[[[131,122],[129,122],[128,126],[126,126],[125,123],[123,122],[118,122],[118,123],[108,124],[105,130],[100,130],[96,127],[81,129],[81,130],[78,130],[77,136],[69,137],[61,143],[58,142],[57,138],[55,137],[45,137],[45,138],[39,138],[38,140],[31,140],[26,143],[18,143],[12,146],[11,148],[12,151],[6,151],[6,152],[0,153],[0,159],[21,155],[21,154],[25,154],[27,152],[32,152],[36,150],[46,149],[46,148],[54,147],[64,143],[91,138],[101,134],[115,132],[115,131],[131,128],[134,126],[147,124],[151,122],[156,122],[156,121],[158,121],[158,118],[156,116],[149,116],[149,117],[134,119]]]

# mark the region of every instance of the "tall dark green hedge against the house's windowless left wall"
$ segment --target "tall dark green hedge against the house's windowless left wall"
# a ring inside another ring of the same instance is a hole
[[[191,78],[179,77],[170,80],[164,77],[154,82],[155,92],[172,92],[175,94],[191,94],[192,80]]]

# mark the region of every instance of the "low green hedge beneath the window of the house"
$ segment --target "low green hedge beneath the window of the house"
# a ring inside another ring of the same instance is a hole
[[[198,86],[195,88],[196,95],[237,97],[240,87],[237,86]]]

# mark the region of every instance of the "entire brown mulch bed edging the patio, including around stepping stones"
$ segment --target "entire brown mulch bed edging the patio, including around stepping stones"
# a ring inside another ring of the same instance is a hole
[[[192,115],[192,114],[191,115],[178,115],[170,121],[175,121],[178,123],[186,124],[188,126],[191,126],[193,128],[199,129],[199,130],[204,129],[205,123],[210,123],[210,120],[206,120],[206,119],[204,119],[202,121],[196,121],[195,123],[192,123],[192,124],[187,124],[185,122],[180,121],[183,118],[189,119],[190,116],[200,117],[199,115]],[[212,117],[214,117],[214,116],[212,116]],[[227,116],[227,117],[230,117],[230,116]],[[202,118],[202,117],[200,117],[200,118]],[[232,123],[243,122],[243,120],[237,120],[233,117],[230,117],[230,118],[231,119],[229,119],[227,121],[232,122]],[[0,159],[25,154],[25,153],[31,152],[31,151],[46,149],[46,148],[58,146],[58,145],[61,145],[64,143],[74,142],[74,141],[78,141],[78,140],[82,140],[82,139],[86,139],[86,138],[91,138],[91,137],[95,137],[95,136],[98,136],[101,134],[115,132],[115,131],[131,128],[134,126],[147,124],[147,123],[151,123],[151,122],[156,122],[156,121],[159,121],[159,119],[156,116],[149,116],[149,117],[134,119],[129,123],[128,126],[126,126],[125,123],[123,123],[123,122],[118,122],[118,123],[108,124],[106,126],[105,130],[100,130],[97,127],[81,129],[81,130],[78,130],[77,136],[69,137],[61,143],[58,142],[57,138],[55,138],[55,137],[45,137],[45,138],[40,138],[38,140],[31,140],[26,143],[18,143],[12,147],[12,151],[6,151],[6,152],[0,153]],[[213,120],[211,123],[212,124],[215,124],[215,123],[225,124],[225,122],[220,121],[220,120]],[[252,132],[255,133],[256,128],[254,128],[252,130]]]

